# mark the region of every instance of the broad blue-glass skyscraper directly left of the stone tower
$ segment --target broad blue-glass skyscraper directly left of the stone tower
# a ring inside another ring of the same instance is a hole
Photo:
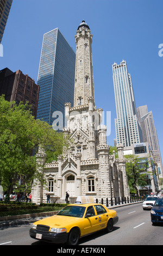
[[[75,63],[76,54],[58,28],[43,35],[37,81],[40,86],[37,119],[52,125],[53,112],[60,111],[64,117],[65,102],[73,105]]]

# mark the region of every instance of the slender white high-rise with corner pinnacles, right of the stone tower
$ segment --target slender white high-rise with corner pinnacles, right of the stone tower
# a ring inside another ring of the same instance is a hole
[[[143,142],[140,124],[136,117],[131,76],[125,60],[112,65],[117,118],[115,119],[117,144],[128,147]]]

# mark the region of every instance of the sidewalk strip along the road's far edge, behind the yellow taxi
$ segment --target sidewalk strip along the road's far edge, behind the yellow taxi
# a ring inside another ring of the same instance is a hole
[[[121,204],[109,206],[107,208],[115,209],[115,208],[120,208],[120,207],[127,206],[127,205],[139,204],[142,202],[143,201],[126,203],[126,204],[121,203]],[[17,227],[18,225],[23,225],[23,224],[31,224],[31,223],[34,223],[35,221],[41,220],[42,218],[53,216],[55,214],[57,214],[57,211],[42,212],[40,214],[26,214],[26,215],[0,217],[0,229],[9,228],[9,227]]]

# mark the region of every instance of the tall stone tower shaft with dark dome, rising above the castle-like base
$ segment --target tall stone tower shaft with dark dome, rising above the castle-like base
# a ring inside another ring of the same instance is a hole
[[[83,20],[75,35],[76,74],[74,81],[74,107],[89,103],[89,97],[93,99],[93,106],[95,106],[91,45],[92,36],[89,26]]]

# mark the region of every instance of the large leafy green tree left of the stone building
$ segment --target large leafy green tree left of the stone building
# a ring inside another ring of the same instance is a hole
[[[0,115],[0,181],[4,190],[11,193],[17,175],[23,176],[28,186],[37,174],[32,150],[41,144],[56,157],[62,153],[64,138],[46,122],[35,120],[28,103],[17,106],[1,96]]]

